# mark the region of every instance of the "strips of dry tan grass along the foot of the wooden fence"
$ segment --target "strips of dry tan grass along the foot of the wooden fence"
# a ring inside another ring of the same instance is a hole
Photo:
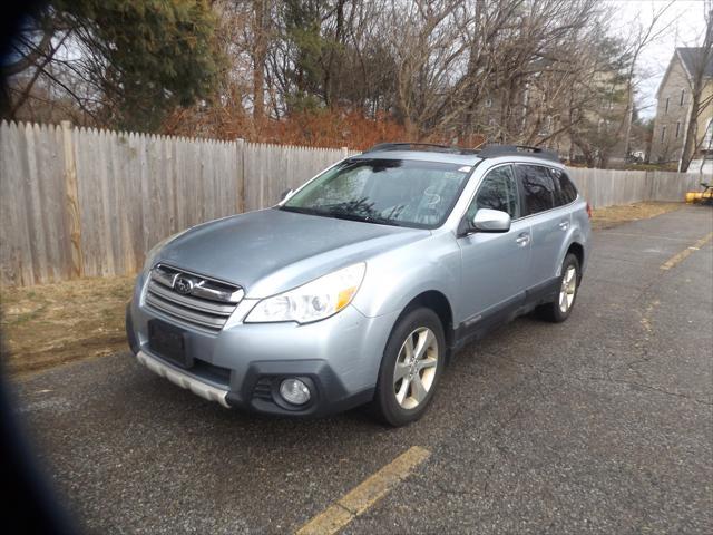
[[[654,217],[681,203],[637,203],[595,210],[593,227]],[[134,276],[82,279],[0,290],[2,360],[13,376],[125,349],[125,304]]]

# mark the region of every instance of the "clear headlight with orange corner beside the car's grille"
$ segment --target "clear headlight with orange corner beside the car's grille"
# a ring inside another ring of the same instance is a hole
[[[354,264],[272,298],[263,299],[247,314],[246,323],[296,321],[309,323],[335,314],[359,290],[367,264]]]

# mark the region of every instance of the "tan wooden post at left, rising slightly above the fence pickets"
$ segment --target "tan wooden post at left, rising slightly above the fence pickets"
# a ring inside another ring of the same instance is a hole
[[[71,140],[71,123],[61,121],[62,152],[65,154],[65,214],[70,240],[71,278],[85,274],[84,253],[81,251],[81,214],[79,212],[79,187],[77,185],[77,163]]]

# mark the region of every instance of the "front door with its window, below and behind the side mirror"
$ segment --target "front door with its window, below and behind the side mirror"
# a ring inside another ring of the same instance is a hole
[[[478,323],[519,305],[525,298],[530,262],[529,221],[520,218],[520,198],[511,165],[490,169],[482,179],[466,217],[480,208],[510,214],[504,233],[473,232],[458,239],[462,259],[461,325]]]

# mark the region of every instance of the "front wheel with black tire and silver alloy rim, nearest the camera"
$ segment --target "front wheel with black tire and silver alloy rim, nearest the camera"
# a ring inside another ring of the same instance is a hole
[[[372,401],[375,416],[393,427],[423,416],[446,364],[446,337],[430,309],[406,312],[394,325],[381,360]]]

